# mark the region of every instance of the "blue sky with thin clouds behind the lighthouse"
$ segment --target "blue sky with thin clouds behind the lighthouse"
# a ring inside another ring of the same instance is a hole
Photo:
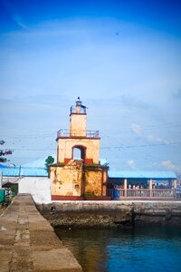
[[[0,0],[1,138],[55,153],[77,96],[111,170],[181,172],[180,1]]]

